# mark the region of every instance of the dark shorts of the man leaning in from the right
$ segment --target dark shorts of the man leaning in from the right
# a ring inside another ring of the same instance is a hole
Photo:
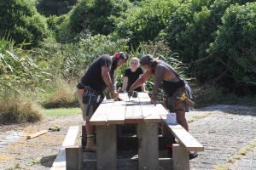
[[[176,92],[172,94],[172,96],[167,97],[166,106],[170,112],[189,112],[189,105],[187,105],[182,99],[180,99],[183,94],[189,97],[184,87],[178,88]]]

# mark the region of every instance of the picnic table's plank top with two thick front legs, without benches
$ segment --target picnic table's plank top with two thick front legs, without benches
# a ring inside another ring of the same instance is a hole
[[[129,99],[119,94],[122,101],[104,99],[90,124],[96,126],[97,169],[117,169],[117,131],[120,124],[137,124],[138,168],[158,169],[159,144],[158,124],[160,112],[166,112],[162,105],[151,105],[146,93],[138,93]]]

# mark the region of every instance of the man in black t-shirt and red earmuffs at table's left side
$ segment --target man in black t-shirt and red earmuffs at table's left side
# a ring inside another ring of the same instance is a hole
[[[85,150],[96,150],[94,144],[94,127],[90,125],[90,117],[103,99],[103,90],[108,88],[113,99],[119,99],[114,88],[114,71],[124,65],[128,55],[119,52],[110,56],[104,54],[92,62],[77,85],[79,105],[83,112],[83,119],[86,122],[87,143]],[[90,99],[89,99],[90,98]]]

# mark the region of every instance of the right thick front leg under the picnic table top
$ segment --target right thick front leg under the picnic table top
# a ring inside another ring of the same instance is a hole
[[[159,169],[158,122],[138,123],[137,138],[138,169]]]

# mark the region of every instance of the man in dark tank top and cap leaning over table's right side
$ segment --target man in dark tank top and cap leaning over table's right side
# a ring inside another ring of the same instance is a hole
[[[129,91],[132,92],[135,88],[148,81],[151,76],[154,76],[151,103],[156,105],[158,90],[161,87],[169,100],[168,103],[172,104],[167,105],[167,108],[172,112],[176,112],[177,122],[189,131],[189,125],[185,118],[187,104],[183,100],[184,98],[189,98],[189,95],[186,92],[186,83],[183,78],[178,76],[171,65],[168,65],[162,60],[154,59],[150,54],[144,55],[142,59],[140,59],[140,64],[146,71],[142,77],[138,78],[137,81],[131,85]],[[194,154],[190,155],[192,158],[194,158],[193,156],[197,156]],[[191,157],[190,155],[189,157]]]

